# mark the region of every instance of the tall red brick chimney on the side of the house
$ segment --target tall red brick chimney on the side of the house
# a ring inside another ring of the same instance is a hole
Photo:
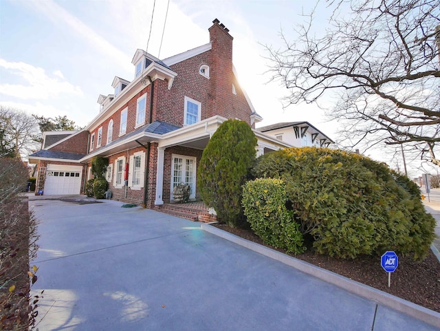
[[[208,117],[219,114],[225,118],[234,118],[228,103],[232,91],[232,36],[228,28],[218,19],[212,21],[208,29],[210,34],[211,67],[210,67],[210,106]]]

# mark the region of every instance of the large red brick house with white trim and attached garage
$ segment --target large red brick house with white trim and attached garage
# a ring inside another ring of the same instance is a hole
[[[84,192],[90,161],[102,156],[116,200],[153,208],[172,201],[181,182],[197,199],[197,166],[214,131],[228,118],[252,129],[262,120],[236,80],[228,32],[215,19],[209,43],[162,61],[137,50],[133,80],[114,78],[114,94],[99,96],[100,111],[85,129],[45,133],[42,149],[30,156],[38,164],[36,194]],[[254,133],[257,155],[290,147]]]

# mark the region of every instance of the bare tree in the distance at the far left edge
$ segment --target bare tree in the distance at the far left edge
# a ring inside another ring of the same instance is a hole
[[[39,147],[35,141],[38,134],[39,123],[34,116],[0,105],[1,156],[28,156]]]

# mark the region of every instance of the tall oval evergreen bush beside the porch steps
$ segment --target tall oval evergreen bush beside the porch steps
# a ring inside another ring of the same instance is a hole
[[[197,183],[203,202],[221,222],[238,226],[243,217],[242,185],[255,159],[256,138],[248,123],[226,120],[203,150]]]

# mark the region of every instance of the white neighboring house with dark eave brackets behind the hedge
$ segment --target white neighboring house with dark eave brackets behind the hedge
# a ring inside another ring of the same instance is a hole
[[[294,147],[329,147],[333,143],[333,140],[309,122],[276,123],[257,130]]]

